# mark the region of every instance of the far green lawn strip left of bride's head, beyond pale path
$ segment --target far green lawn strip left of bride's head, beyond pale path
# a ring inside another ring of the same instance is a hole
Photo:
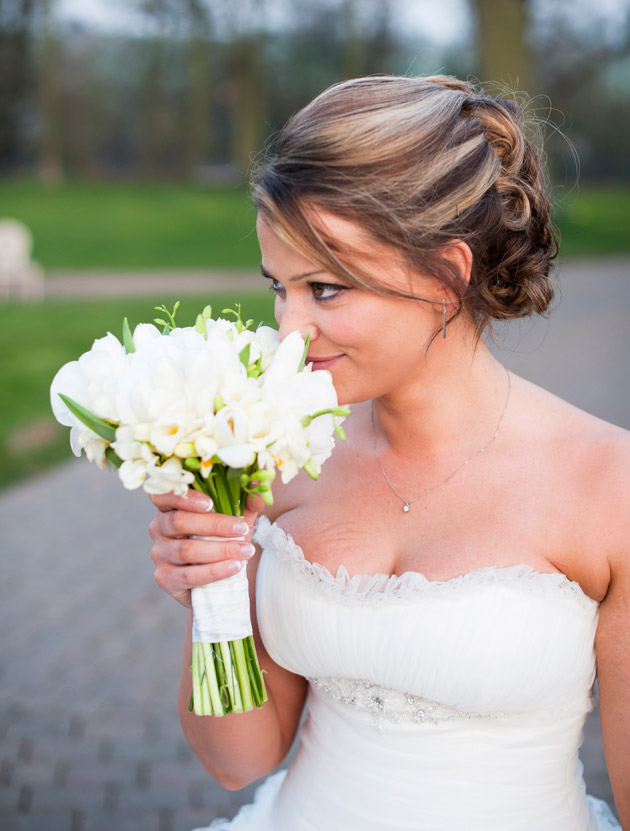
[[[260,258],[244,188],[0,181],[0,216],[29,226],[46,269],[249,268]]]

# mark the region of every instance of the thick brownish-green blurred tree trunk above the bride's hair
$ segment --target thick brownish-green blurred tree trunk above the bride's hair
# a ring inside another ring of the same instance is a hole
[[[534,92],[527,42],[529,0],[472,0],[475,12],[479,77],[485,85]]]

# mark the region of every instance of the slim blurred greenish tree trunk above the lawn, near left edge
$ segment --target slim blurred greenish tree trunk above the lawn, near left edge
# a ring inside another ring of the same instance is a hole
[[[55,2],[39,0],[39,177],[46,184],[54,184],[63,178],[61,39],[55,19]]]

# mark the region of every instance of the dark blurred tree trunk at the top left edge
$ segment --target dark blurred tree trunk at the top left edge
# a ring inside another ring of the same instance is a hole
[[[22,158],[21,123],[34,83],[35,0],[0,0],[0,171]]]

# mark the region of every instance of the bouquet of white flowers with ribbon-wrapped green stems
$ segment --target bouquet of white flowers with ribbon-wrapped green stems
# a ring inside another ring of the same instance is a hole
[[[51,386],[59,422],[71,427],[75,455],[117,469],[126,488],[185,496],[208,494],[217,511],[242,516],[248,494],[271,504],[280,471],[317,478],[340,421],[330,373],[305,365],[308,343],[292,332],[281,343],[268,326],[212,318],[194,327],[125,319],[122,343],[108,333]],[[252,636],[247,571],[193,589],[193,695],[199,715],[251,710],[266,701]]]

